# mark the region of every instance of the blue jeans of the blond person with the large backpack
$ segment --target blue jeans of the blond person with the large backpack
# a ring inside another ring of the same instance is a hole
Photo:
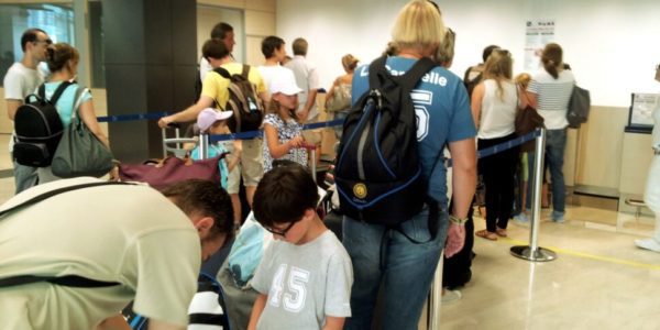
[[[428,208],[402,223],[413,243],[396,230],[351,218],[343,220],[343,244],[353,263],[351,314],[344,329],[371,329],[381,284],[382,329],[417,329],[424,302],[444,246],[449,217],[440,212],[435,240],[428,229]]]

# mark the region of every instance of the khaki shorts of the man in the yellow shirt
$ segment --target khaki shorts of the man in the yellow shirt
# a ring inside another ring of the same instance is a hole
[[[234,167],[227,178],[227,193],[239,194],[241,189],[241,174],[245,187],[255,187],[264,175],[264,161],[262,155],[262,139],[243,141],[241,162]]]

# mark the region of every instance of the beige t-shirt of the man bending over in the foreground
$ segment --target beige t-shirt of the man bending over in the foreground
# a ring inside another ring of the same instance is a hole
[[[40,185],[2,209],[89,182],[98,179]],[[186,326],[200,262],[190,220],[150,187],[101,186],[54,196],[0,218],[0,278],[79,275],[121,285],[0,288],[0,329],[91,329],[132,299],[143,316]]]

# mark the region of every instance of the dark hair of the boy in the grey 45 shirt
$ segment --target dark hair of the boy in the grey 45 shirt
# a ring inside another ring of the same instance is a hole
[[[277,162],[264,174],[254,193],[253,210],[264,227],[299,221],[305,211],[319,201],[317,189],[307,167],[295,162]]]

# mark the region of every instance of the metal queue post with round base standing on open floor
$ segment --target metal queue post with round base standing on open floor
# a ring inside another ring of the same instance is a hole
[[[546,150],[546,129],[540,129],[541,134],[536,139],[536,153],[534,161],[534,189],[531,206],[531,224],[529,228],[529,245],[512,246],[514,256],[532,261],[548,262],[557,258],[557,254],[539,246],[539,224],[541,221],[541,185],[543,182],[543,154]]]

